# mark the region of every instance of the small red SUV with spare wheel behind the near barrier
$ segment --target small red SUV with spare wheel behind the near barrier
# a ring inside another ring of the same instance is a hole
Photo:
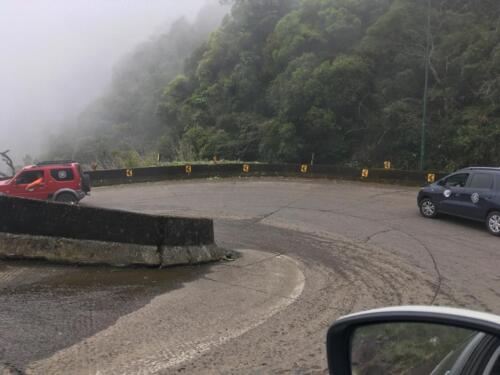
[[[0,181],[0,195],[76,204],[90,192],[90,177],[73,161],[43,162],[24,167]]]

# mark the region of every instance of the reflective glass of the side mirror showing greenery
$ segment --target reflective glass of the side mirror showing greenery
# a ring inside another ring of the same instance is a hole
[[[498,338],[451,326],[366,325],[351,337],[351,369],[353,375],[452,375],[480,363],[481,374],[499,375],[495,368],[500,361],[494,358],[498,348]]]

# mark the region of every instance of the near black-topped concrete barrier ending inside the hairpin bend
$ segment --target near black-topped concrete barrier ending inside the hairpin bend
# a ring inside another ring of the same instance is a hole
[[[213,221],[0,197],[0,258],[113,266],[222,259]]]

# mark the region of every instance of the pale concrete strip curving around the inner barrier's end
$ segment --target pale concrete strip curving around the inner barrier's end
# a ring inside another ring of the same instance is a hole
[[[305,277],[295,260],[242,253],[104,331],[33,363],[27,373],[159,373],[258,327],[302,294]]]

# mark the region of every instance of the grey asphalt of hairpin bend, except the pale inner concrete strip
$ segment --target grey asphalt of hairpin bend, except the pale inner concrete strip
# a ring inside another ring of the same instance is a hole
[[[342,314],[401,304],[500,314],[500,239],[481,224],[421,218],[416,193],[356,182],[228,179],[99,188],[85,204],[212,217],[220,245],[287,255],[305,277],[291,305],[160,373],[306,374],[325,372],[324,334]],[[161,274],[31,264],[17,278],[2,267],[19,266],[0,263],[0,327],[8,330],[0,356],[29,370],[155,296],[182,294],[184,283],[211,266]],[[119,352],[116,345],[109,350]]]

